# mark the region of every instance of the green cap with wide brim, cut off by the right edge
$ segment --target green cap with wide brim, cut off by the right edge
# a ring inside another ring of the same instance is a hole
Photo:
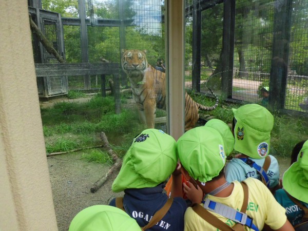
[[[288,194],[308,203],[308,141],[299,151],[297,161],[284,172],[282,185]]]

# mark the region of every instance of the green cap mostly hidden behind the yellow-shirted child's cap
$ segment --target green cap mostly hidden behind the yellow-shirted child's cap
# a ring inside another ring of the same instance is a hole
[[[234,136],[232,134],[230,127],[225,122],[218,119],[211,119],[208,122],[206,122],[204,126],[212,127],[221,134],[226,156],[229,156],[234,148]]]

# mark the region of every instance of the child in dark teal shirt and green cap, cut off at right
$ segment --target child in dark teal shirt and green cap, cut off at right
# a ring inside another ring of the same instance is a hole
[[[283,189],[278,189],[274,197],[286,209],[286,217],[294,227],[307,221],[299,230],[308,230],[308,141],[298,152],[297,161],[284,172],[282,184]]]

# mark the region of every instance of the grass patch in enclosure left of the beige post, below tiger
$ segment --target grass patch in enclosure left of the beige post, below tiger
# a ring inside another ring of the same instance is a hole
[[[125,103],[126,99],[121,101]],[[104,131],[114,150],[123,156],[137,130],[143,129],[136,111],[122,108],[120,114],[115,114],[113,97],[102,98],[99,94],[86,103],[60,102],[41,108],[41,117],[47,153],[100,145],[99,133]],[[99,156],[97,153],[90,156]]]

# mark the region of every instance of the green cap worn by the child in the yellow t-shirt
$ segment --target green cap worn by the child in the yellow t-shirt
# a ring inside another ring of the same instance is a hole
[[[186,131],[178,140],[178,153],[182,166],[200,182],[219,175],[226,161],[221,134],[209,126]]]

